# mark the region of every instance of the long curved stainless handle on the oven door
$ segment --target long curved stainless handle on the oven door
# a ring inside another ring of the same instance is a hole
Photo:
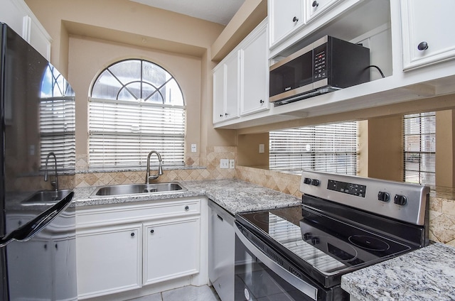
[[[265,255],[259,248],[257,248],[254,244],[252,244],[243,234],[242,231],[239,229],[237,225],[234,226],[235,234],[237,237],[242,241],[245,248],[247,248],[254,256],[256,256],[259,261],[264,263],[267,268],[272,270],[274,273],[279,275],[279,277],[286,280],[287,283],[291,284],[297,290],[300,290],[305,295],[311,297],[313,300],[317,300],[318,298],[318,289],[315,288],[313,285],[306,283],[304,280],[297,278],[295,275],[290,273],[288,270],[280,266],[278,263],[273,261],[269,256]]]

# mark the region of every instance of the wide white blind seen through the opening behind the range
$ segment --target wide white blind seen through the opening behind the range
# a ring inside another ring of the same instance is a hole
[[[355,175],[357,122],[291,128],[269,133],[269,169]]]

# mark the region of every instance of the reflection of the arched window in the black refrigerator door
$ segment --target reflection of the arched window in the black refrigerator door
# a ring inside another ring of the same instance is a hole
[[[41,168],[45,167],[48,153],[53,152],[58,170],[74,170],[75,94],[70,84],[50,64],[41,82],[39,110]]]

